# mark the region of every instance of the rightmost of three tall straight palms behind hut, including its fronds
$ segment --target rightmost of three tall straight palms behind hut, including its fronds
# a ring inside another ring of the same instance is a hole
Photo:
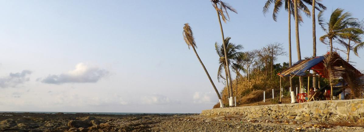
[[[317,1],[320,1],[320,0],[317,0]],[[312,0],[312,44],[313,44],[313,54],[312,56],[315,57],[316,56],[316,15],[315,15],[315,11],[316,9],[318,11],[321,11],[322,10],[326,10],[326,7],[321,4],[321,3],[318,3],[316,0]],[[317,8],[316,7],[316,4],[318,5],[318,7],[320,8]],[[315,74],[316,72],[313,71],[312,72],[313,74]],[[317,88],[317,77],[312,77],[312,86],[314,88]]]

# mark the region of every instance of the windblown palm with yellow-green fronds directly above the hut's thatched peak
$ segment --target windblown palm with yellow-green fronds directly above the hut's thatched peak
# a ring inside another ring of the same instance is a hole
[[[344,9],[335,9],[328,22],[324,22],[323,12],[318,13],[318,24],[326,32],[320,37],[320,41],[327,44],[329,39],[330,52],[332,52],[332,41],[338,38],[348,38],[352,34],[362,34],[363,30],[357,28],[359,24],[355,18],[351,17],[351,13],[344,12]]]

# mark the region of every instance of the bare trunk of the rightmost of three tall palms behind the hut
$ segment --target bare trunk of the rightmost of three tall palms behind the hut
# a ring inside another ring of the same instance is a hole
[[[313,43],[313,57],[316,57],[316,16],[315,16],[315,0],[312,0],[312,43]],[[315,71],[312,72],[313,74],[316,74]],[[312,86],[313,88],[317,88],[317,77],[312,77]]]

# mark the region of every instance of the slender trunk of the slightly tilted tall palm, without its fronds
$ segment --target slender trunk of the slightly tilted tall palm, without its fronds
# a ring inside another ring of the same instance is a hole
[[[215,3],[215,7],[217,7],[217,4]],[[222,24],[221,24],[221,20],[220,20],[220,14],[218,12],[218,10],[216,10],[217,13],[217,17],[219,20],[219,24],[220,24],[220,30],[221,30],[221,36],[222,36],[222,45],[224,47],[224,54],[225,54],[225,63],[226,63],[226,70],[227,70],[227,76],[229,77],[226,78],[230,81],[230,102],[229,102],[229,106],[233,106],[233,86],[232,86],[232,81],[231,81],[231,76],[230,76],[230,69],[229,69],[229,61],[227,60],[227,51],[226,51],[226,44],[225,44],[225,37],[224,37],[224,32],[222,30]]]

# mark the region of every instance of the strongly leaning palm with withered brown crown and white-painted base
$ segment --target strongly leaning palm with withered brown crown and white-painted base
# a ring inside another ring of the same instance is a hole
[[[196,47],[195,38],[193,37],[192,29],[191,29],[191,27],[190,27],[190,25],[188,23],[186,23],[185,26],[183,27],[182,34],[183,34],[183,38],[185,39],[185,42],[187,43],[188,49],[190,49],[190,47],[192,47],[193,51],[195,52],[195,54],[197,56],[198,61],[200,61],[201,65],[202,65],[203,70],[205,70],[206,75],[209,78],[209,80],[211,82],[211,85],[212,85],[212,87],[214,88],[214,90],[215,90],[215,92],[217,94],[217,97],[219,98],[220,108],[224,107],[224,105],[222,103],[222,100],[221,100],[221,96],[219,94],[219,91],[216,89],[216,86],[215,86],[214,82],[212,81],[209,72],[207,72],[207,69],[206,69],[205,65],[203,65],[200,57],[198,56],[198,54],[196,52],[196,49],[195,49],[195,47]]]

